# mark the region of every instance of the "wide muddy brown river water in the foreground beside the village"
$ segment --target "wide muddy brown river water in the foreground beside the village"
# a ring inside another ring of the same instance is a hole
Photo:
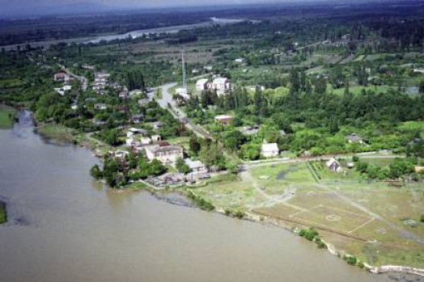
[[[281,228],[107,190],[97,162],[28,122],[0,130],[0,281],[389,281]]]

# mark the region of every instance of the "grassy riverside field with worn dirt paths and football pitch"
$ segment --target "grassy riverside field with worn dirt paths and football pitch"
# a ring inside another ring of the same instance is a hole
[[[363,262],[424,267],[424,223],[419,221],[424,185],[361,183],[355,172],[343,181],[343,173],[326,168],[318,171],[322,180],[317,182],[306,163],[258,166],[249,173],[249,182],[217,179],[194,191],[223,209],[247,210],[291,228],[314,226],[326,242]],[[293,195],[278,197],[287,191]]]

